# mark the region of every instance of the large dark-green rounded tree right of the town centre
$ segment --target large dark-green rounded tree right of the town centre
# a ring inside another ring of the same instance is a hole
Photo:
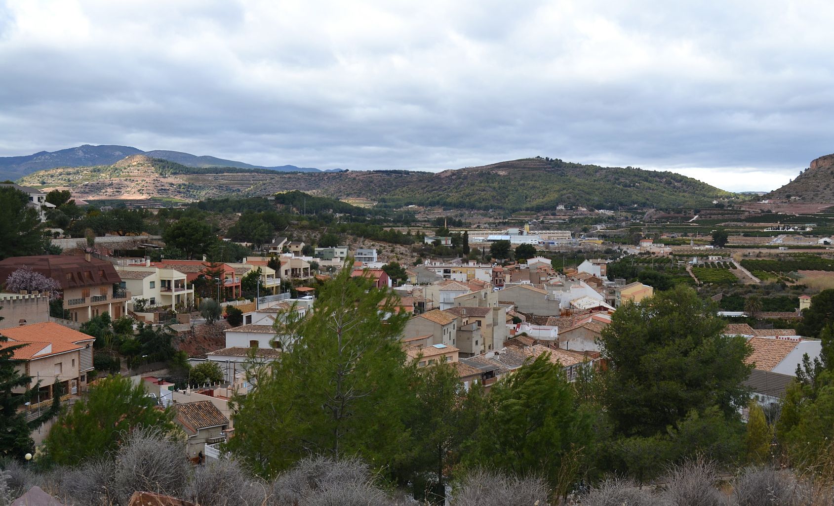
[[[742,336],[724,336],[725,326],[686,286],[620,307],[600,339],[610,365],[604,403],[616,431],[665,433],[711,406],[736,418],[748,398],[741,382],[751,348]]]

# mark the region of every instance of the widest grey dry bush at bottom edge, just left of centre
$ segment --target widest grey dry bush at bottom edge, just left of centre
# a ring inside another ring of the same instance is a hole
[[[279,475],[269,498],[274,506],[389,506],[373,473],[358,458],[304,458]]]

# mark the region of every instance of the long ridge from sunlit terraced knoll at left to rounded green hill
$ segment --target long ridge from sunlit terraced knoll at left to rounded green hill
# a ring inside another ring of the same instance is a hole
[[[559,205],[596,209],[695,208],[735,195],[671,172],[600,167],[540,157],[440,173],[409,170],[311,173],[188,167],[146,154],[132,154],[111,165],[42,170],[20,182],[45,189],[72,190],[73,195],[84,200],[203,200],[300,190],[334,199],[374,200],[388,208],[422,205],[510,212],[546,212],[556,210]]]

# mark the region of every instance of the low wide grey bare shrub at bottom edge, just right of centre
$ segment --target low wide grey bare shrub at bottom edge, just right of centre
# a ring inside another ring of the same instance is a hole
[[[484,469],[470,473],[452,493],[454,506],[546,506],[550,490],[541,478],[515,478]]]

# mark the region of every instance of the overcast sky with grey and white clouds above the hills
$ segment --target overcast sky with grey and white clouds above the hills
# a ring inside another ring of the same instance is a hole
[[[78,144],[773,190],[834,152],[834,3],[0,0],[0,156]]]

